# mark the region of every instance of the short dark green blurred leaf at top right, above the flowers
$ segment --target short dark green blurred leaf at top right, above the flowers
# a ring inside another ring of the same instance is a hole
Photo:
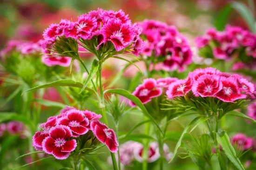
[[[217,30],[219,31],[224,30],[228,22],[231,11],[232,11],[232,7],[230,5],[227,5],[217,15],[216,22],[215,22],[215,26]]]

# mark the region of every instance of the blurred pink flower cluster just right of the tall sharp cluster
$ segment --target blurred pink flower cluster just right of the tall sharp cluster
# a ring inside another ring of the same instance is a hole
[[[153,63],[158,63],[159,68],[166,71],[184,71],[185,66],[192,62],[188,41],[175,26],[155,20],[144,20],[139,24],[141,36],[146,41],[141,51],[143,57],[151,57]]]

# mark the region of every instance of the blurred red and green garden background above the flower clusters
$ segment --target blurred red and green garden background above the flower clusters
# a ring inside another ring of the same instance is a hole
[[[133,22],[156,19],[175,25],[191,39],[209,27],[223,23],[247,28],[246,23],[229,4],[234,0],[0,0],[0,49],[9,39],[38,41],[51,23],[77,16],[98,7],[122,9]],[[248,7],[248,0],[236,0]],[[226,15],[226,17],[220,17]],[[224,19],[224,20],[223,20]]]

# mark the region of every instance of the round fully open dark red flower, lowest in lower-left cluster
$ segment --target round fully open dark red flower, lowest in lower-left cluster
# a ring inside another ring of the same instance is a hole
[[[72,131],[67,126],[54,126],[49,136],[43,142],[43,151],[52,154],[56,159],[66,159],[77,146],[76,140],[71,139]]]

